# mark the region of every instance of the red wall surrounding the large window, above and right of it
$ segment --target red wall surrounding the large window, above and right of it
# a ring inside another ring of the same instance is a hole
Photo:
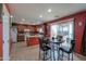
[[[60,21],[64,21],[64,20],[69,20],[69,18],[74,18],[74,38],[75,38],[75,48],[74,51],[78,54],[81,53],[81,48],[82,48],[82,37],[83,37],[83,33],[84,33],[84,26],[85,26],[85,18],[86,18],[86,11],[83,12],[78,12],[69,16],[64,16],[54,21],[50,21],[46,24],[51,24],[54,22],[60,22]],[[82,26],[78,25],[78,22],[82,22]],[[49,25],[46,25],[46,28]],[[50,35],[50,30],[45,30],[45,33],[47,35]]]

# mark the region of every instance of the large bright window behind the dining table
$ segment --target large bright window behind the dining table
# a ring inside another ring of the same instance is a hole
[[[65,23],[58,23],[57,25],[51,25],[51,37],[57,37],[58,35],[62,35],[65,38],[73,39],[73,30],[74,23],[73,22],[65,22]]]

